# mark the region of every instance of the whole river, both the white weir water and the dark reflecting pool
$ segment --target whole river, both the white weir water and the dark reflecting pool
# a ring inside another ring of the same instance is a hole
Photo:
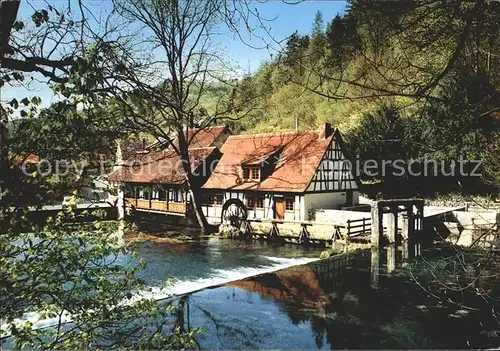
[[[407,276],[382,269],[374,287],[369,251],[319,260],[321,248],[219,238],[149,241],[135,250],[148,261],[141,274],[154,297],[179,295],[180,313],[167,325],[203,329],[196,334],[203,349],[500,344],[491,316],[442,304]]]

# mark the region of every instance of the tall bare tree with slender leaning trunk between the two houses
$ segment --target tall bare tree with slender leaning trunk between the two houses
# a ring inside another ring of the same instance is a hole
[[[119,111],[118,124],[152,135],[180,156],[192,208],[200,228],[207,231],[210,226],[190,167],[190,143],[200,131],[229,120],[230,113],[238,119],[253,107],[248,101],[244,110],[235,106],[239,85],[228,78],[228,66],[214,48],[217,26],[233,21],[227,16],[235,14],[224,11],[227,3],[220,0],[115,1],[114,5],[119,19],[140,27],[147,38],[141,45],[113,47],[107,60],[119,67],[115,79],[121,86],[102,80],[103,96],[112,99]],[[143,52],[155,57],[143,61]],[[201,101],[214,84],[227,85],[232,92],[218,97],[210,111]],[[195,127],[194,133],[188,132]]]

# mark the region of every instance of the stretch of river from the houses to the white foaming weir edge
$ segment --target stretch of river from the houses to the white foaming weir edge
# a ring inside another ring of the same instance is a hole
[[[218,238],[147,242],[134,249],[148,262],[141,276],[149,285],[158,288],[170,279],[165,293],[176,295],[312,262],[321,253],[314,247]]]

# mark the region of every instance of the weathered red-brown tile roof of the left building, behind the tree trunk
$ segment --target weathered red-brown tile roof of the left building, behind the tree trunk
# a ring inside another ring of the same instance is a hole
[[[192,148],[189,150],[191,170],[210,156],[217,148]],[[109,176],[112,182],[183,184],[186,180],[181,158],[172,150],[136,153]]]

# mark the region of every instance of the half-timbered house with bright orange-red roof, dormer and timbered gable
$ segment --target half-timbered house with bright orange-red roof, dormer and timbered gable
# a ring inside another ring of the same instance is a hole
[[[311,220],[317,209],[358,202],[359,183],[337,129],[233,135],[204,184],[205,215],[220,221],[228,203],[248,218]],[[226,205],[225,205],[226,204]]]

